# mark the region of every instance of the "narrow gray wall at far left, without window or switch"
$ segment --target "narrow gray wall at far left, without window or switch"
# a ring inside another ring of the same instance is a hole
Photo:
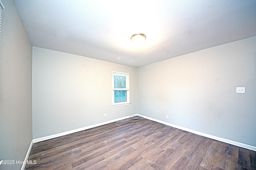
[[[32,141],[32,46],[13,0],[3,0],[0,50],[0,170],[16,170]]]

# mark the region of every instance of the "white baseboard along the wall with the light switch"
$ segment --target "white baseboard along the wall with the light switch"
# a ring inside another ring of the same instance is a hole
[[[151,117],[147,117],[147,116],[144,116],[144,115],[140,115],[140,114],[136,114],[136,115],[142,116],[142,117],[144,117],[146,119],[149,119],[149,120],[152,120],[152,121],[156,121],[158,123],[162,123],[164,125],[175,127],[177,129],[181,129],[181,130],[184,130],[184,131],[187,131],[187,132],[191,132],[191,133],[194,133],[196,135],[200,135],[200,136],[203,136],[203,137],[208,137],[210,139],[215,139],[216,141],[221,141],[221,142],[224,142],[224,143],[228,143],[228,144],[231,144],[231,145],[235,145],[235,146],[238,146],[238,147],[242,147],[242,148],[245,148],[245,149],[250,149],[250,150],[256,151],[256,147],[251,146],[251,145],[247,145],[247,144],[244,144],[244,143],[240,143],[240,142],[236,142],[236,141],[231,141],[231,140],[224,139],[224,138],[221,138],[221,137],[216,137],[216,136],[209,135],[209,134],[206,134],[206,133],[194,131],[194,130],[188,129],[186,127],[181,127],[181,126],[178,126],[178,125],[173,125],[171,123],[167,123],[165,121],[160,121],[160,120],[157,120],[157,119],[154,119],[154,118],[151,118]]]

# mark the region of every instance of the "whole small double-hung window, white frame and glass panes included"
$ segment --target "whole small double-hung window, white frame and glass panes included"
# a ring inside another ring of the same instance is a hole
[[[112,71],[112,106],[130,104],[130,74]]]

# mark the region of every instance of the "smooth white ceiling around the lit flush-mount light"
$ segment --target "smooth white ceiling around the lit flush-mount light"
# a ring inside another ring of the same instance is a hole
[[[32,46],[134,67],[256,36],[256,0],[14,2]]]

